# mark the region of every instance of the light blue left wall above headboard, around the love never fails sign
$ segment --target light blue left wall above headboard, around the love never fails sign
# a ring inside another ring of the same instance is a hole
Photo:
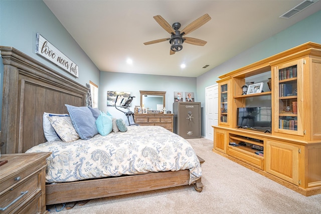
[[[46,40],[79,66],[79,78],[75,78],[68,72],[35,54],[36,33],[40,33]],[[0,46],[14,47],[58,71],[63,76],[73,79],[84,86],[86,83],[89,83],[89,80],[99,85],[100,71],[42,0],[0,0]],[[0,61],[1,110],[4,66],[2,59],[0,59]]]

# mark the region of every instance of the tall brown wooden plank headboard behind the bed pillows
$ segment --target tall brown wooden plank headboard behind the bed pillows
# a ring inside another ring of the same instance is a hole
[[[85,106],[88,89],[12,47],[0,46],[4,64],[1,153],[21,153],[46,142],[43,113]]]

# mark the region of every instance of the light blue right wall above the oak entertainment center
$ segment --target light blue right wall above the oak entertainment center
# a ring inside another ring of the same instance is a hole
[[[205,107],[205,88],[216,84],[218,76],[306,42],[321,44],[321,11],[197,77],[197,97],[199,102],[202,103],[202,107]],[[265,79],[262,80],[262,82],[263,81],[265,81]],[[205,118],[203,127],[205,127]],[[204,136],[205,133],[202,133],[202,135]]]

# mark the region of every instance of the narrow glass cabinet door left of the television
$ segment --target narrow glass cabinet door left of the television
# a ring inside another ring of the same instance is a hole
[[[219,113],[220,113],[220,124],[228,124],[228,89],[229,89],[229,84],[227,83],[222,83],[220,85],[220,91],[219,91],[219,98],[220,98],[220,105],[219,105]]]

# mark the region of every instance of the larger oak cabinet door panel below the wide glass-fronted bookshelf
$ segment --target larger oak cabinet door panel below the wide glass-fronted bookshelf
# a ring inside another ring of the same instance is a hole
[[[298,185],[298,147],[283,142],[266,142],[266,171]]]

